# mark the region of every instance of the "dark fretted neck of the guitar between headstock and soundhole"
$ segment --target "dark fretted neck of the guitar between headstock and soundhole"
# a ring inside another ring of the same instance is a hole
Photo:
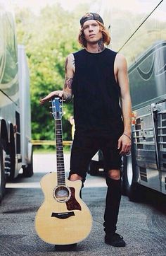
[[[61,119],[55,120],[56,129],[56,163],[58,185],[65,185],[65,165],[63,154],[63,132]]]

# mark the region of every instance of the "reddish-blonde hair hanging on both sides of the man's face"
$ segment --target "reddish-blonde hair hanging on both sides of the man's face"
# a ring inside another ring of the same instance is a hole
[[[96,22],[100,26],[100,31],[103,35],[103,43],[106,45],[109,45],[110,44],[110,33],[108,32],[108,30],[105,28],[105,26],[101,22],[99,22],[99,21],[96,21]],[[79,31],[78,42],[80,45],[82,45],[82,47],[84,47],[84,48],[87,47],[87,40],[84,37],[83,26],[81,27],[81,29]]]

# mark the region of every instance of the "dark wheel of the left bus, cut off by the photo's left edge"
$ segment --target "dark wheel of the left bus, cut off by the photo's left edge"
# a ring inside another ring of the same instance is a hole
[[[5,175],[5,158],[4,158],[4,150],[0,146],[0,202],[5,194],[5,185],[6,185],[6,175]]]

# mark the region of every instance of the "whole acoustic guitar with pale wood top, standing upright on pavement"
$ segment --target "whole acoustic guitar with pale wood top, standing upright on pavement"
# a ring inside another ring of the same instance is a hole
[[[41,178],[44,202],[35,217],[39,238],[53,245],[71,245],[89,235],[92,226],[91,212],[79,197],[82,181],[65,178],[62,135],[63,100],[53,98],[52,114],[56,127],[57,172]]]

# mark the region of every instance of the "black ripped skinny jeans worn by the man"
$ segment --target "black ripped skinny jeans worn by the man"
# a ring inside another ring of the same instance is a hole
[[[121,156],[117,149],[117,140],[122,131],[115,136],[110,132],[93,131],[77,131],[72,144],[70,158],[70,175],[77,174],[85,181],[89,162],[94,154],[101,149],[103,152],[104,169],[106,177],[108,170],[120,170],[122,165]],[[117,216],[119,212],[121,199],[121,180],[113,180],[106,178],[108,192],[106,197],[106,210],[104,214],[104,230],[106,233],[114,233],[116,231]]]

